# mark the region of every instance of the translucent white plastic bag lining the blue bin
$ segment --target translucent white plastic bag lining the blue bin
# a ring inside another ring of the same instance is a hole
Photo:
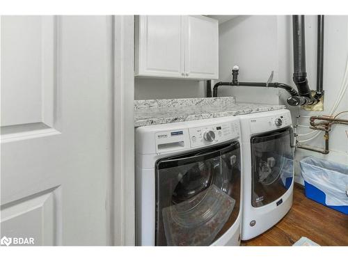
[[[301,175],[326,195],[326,205],[348,205],[348,166],[333,161],[306,157],[300,161]]]

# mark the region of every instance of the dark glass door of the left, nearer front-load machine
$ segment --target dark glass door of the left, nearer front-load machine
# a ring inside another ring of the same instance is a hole
[[[240,200],[237,141],[156,164],[156,245],[208,246],[235,223]]]

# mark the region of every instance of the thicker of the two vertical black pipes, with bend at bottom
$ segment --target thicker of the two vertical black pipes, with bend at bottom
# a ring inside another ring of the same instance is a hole
[[[308,86],[306,72],[306,45],[305,45],[305,19],[304,15],[292,16],[292,34],[294,47],[294,74],[292,79],[296,84],[300,97],[292,97],[290,105],[313,104],[315,99]]]

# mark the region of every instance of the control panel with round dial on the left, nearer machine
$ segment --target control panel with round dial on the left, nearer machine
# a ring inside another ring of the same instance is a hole
[[[223,122],[189,129],[191,147],[235,139],[240,135],[239,122]]]

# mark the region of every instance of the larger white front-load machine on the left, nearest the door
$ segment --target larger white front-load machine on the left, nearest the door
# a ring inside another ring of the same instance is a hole
[[[136,128],[136,244],[240,244],[239,119]]]

